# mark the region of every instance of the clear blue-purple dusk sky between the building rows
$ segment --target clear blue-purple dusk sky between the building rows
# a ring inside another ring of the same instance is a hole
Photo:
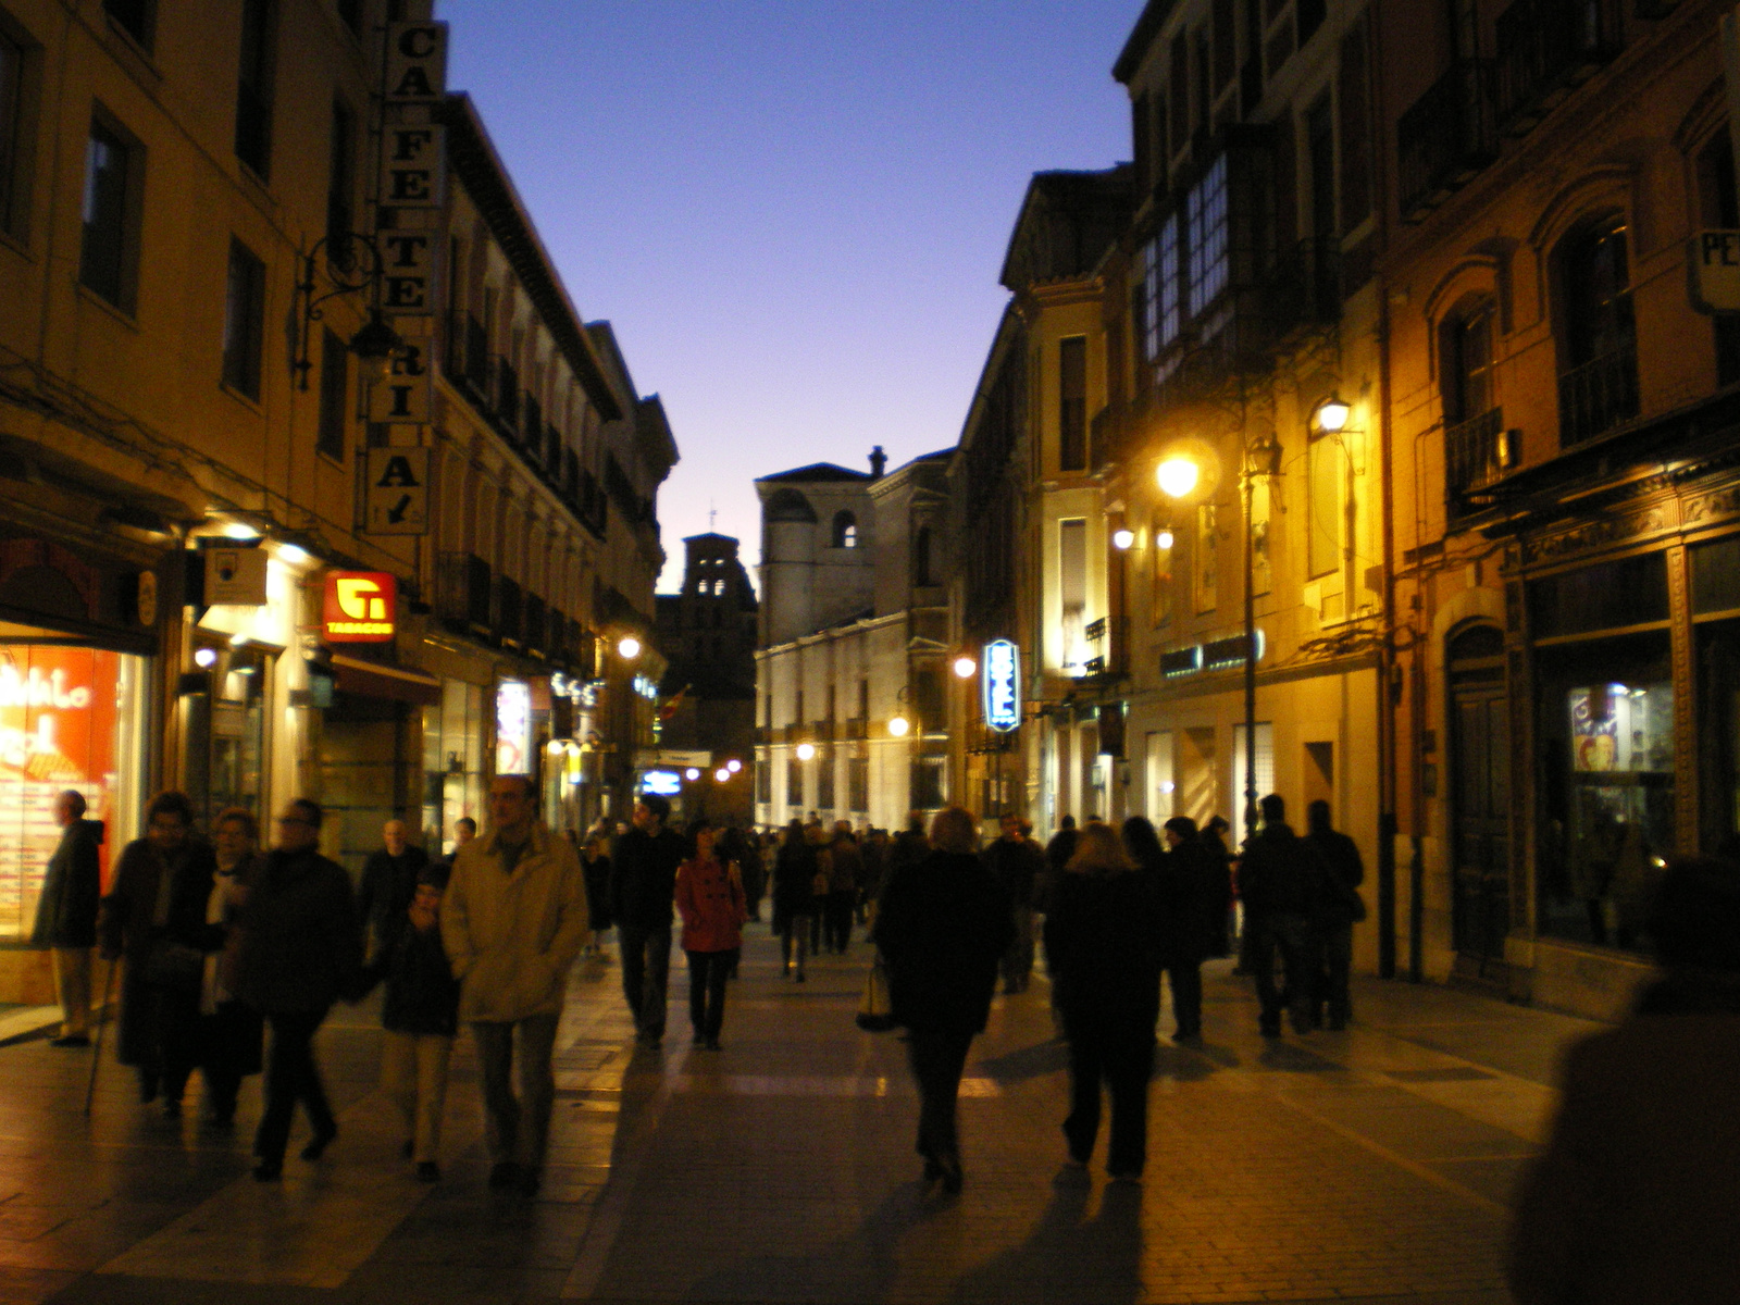
[[[960,435],[1028,176],[1129,157],[1141,0],[438,0],[569,294],[757,560],[757,475]]]

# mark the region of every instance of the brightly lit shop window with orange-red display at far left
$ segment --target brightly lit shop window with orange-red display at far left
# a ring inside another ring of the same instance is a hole
[[[54,799],[85,795],[108,853],[137,807],[139,659],[90,647],[0,646],[0,940],[28,938],[49,856]]]

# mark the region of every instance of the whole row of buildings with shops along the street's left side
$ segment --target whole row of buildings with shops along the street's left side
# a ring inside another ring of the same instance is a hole
[[[630,802],[677,445],[445,56],[426,2],[0,0],[0,1000],[63,788],[104,873],[158,788],[315,797],[351,870],[494,774]]]

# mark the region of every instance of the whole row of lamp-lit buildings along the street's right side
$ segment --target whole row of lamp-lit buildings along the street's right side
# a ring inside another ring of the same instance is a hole
[[[1719,17],[1148,3],[1129,162],[1034,174],[959,444],[757,482],[759,820],[1321,799],[1359,967],[1622,1011],[1665,860],[1740,826]]]

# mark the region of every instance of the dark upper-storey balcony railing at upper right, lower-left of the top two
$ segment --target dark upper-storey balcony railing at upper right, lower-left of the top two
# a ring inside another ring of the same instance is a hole
[[[1498,158],[1493,70],[1456,59],[1395,124],[1402,221],[1416,223]]]

